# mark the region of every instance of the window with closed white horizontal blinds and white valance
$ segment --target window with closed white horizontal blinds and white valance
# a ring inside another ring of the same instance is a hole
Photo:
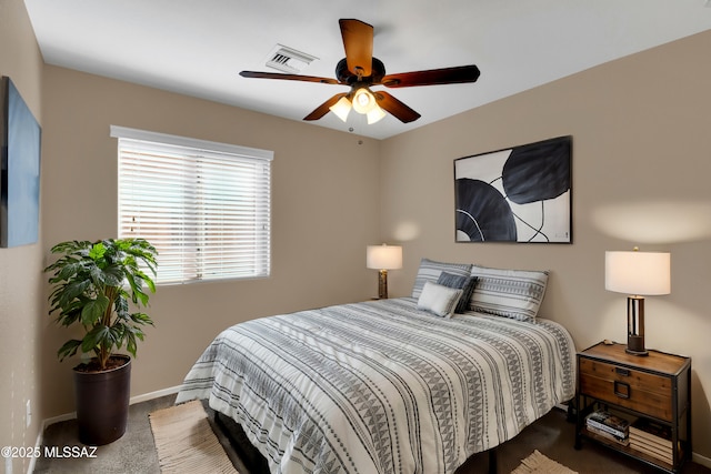
[[[273,152],[111,127],[119,238],[159,252],[157,283],[269,276]]]

